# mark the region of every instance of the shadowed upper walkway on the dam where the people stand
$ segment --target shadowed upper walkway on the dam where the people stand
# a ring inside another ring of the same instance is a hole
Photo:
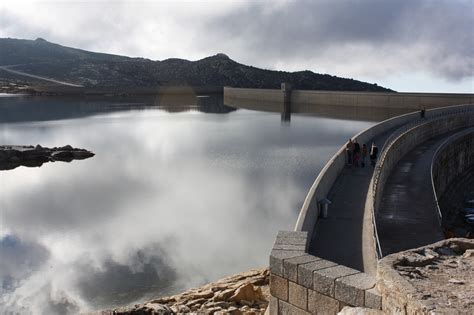
[[[393,131],[373,139],[379,150]],[[316,223],[310,254],[375,275],[372,217],[364,213],[373,171],[367,157],[365,168],[346,167],[339,175],[328,195],[328,218]]]

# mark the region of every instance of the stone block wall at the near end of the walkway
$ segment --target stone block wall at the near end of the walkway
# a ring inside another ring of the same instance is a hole
[[[337,314],[348,305],[381,309],[373,276],[310,255],[308,245],[308,232],[278,232],[270,255],[270,314]]]

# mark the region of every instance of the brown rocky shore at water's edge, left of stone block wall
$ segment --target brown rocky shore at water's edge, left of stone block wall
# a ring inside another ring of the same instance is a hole
[[[184,293],[98,315],[263,314],[270,296],[268,283],[268,268],[252,270]]]

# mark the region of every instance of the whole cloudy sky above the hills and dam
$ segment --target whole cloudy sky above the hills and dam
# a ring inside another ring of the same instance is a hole
[[[2,0],[0,37],[474,92],[472,0]]]

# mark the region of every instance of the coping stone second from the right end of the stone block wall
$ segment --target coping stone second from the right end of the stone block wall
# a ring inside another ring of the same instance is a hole
[[[351,306],[364,306],[365,290],[375,286],[375,278],[358,273],[336,280],[335,298]]]

